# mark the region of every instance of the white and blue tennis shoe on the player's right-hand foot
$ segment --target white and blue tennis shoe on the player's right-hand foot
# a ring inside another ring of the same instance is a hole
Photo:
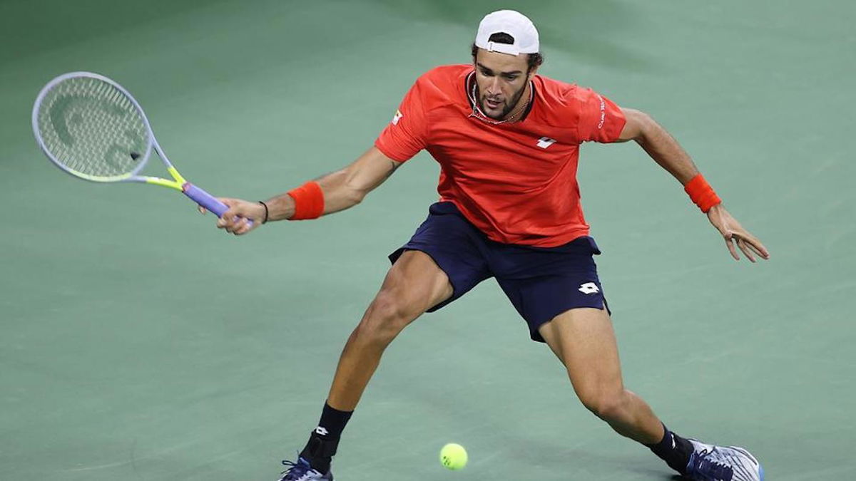
[[[764,481],[764,468],[744,448],[713,446],[694,439],[687,478],[695,481]]]

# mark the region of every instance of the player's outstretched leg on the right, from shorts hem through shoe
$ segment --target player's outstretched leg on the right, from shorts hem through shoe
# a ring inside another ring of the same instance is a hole
[[[606,309],[577,308],[538,333],[568,369],[574,391],[612,429],[641,442],[682,474],[699,480],[760,481],[764,470],[745,449],[691,441],[665,429],[638,395],[625,389],[615,332]]]

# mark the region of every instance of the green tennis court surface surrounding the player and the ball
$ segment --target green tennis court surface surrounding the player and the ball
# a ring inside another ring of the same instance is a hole
[[[48,163],[30,128],[45,82],[118,80],[188,179],[263,199],[359,155],[413,80],[469,62],[481,16],[509,5],[0,1],[0,479],[275,479],[386,254],[436,197],[422,153],[351,211],[224,235],[177,193]],[[685,436],[752,449],[770,480],[856,479],[853,2],[517,8],[541,73],[651,113],[772,254],[729,258],[637,145],[584,146],[628,388]],[[445,442],[467,469],[439,465]],[[671,479],[580,406],[493,281],[389,347],[334,471]]]

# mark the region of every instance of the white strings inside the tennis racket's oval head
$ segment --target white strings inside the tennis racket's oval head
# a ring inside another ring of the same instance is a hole
[[[151,143],[134,103],[115,86],[91,77],[53,86],[39,106],[38,124],[51,157],[92,180],[131,175],[146,160]]]

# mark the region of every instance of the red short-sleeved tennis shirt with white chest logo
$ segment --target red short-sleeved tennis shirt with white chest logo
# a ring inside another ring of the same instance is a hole
[[[425,149],[440,163],[437,192],[490,240],[561,246],[589,234],[580,206],[580,144],[615,142],[625,118],[591,89],[535,75],[520,122],[473,115],[472,65],[423,74],[375,146],[407,161]]]

